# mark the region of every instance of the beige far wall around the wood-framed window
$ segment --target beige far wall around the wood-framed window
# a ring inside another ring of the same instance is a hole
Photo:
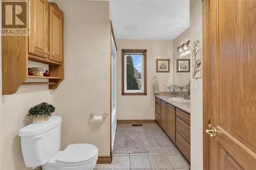
[[[153,77],[159,78],[160,91],[173,84],[172,40],[117,40],[117,118],[155,119]],[[121,95],[121,50],[147,49],[147,95]],[[156,59],[170,59],[170,73],[156,73]]]

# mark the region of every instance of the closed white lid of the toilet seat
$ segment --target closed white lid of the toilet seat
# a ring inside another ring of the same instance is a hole
[[[98,148],[93,144],[70,144],[56,159],[59,163],[80,163],[93,159],[98,154]]]

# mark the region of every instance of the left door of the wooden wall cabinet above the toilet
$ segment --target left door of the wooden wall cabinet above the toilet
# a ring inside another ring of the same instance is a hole
[[[49,56],[49,3],[46,0],[29,1],[29,53]]]

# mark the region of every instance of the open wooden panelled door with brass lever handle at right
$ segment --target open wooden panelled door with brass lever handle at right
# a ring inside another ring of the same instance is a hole
[[[253,170],[256,169],[256,1],[208,3],[209,34],[204,36],[209,38],[206,65],[209,129],[217,130],[216,137],[209,140],[209,169]]]

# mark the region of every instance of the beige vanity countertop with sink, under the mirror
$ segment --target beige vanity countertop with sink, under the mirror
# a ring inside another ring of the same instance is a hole
[[[169,94],[155,94],[155,97],[190,114],[190,102],[169,101],[172,98]]]

